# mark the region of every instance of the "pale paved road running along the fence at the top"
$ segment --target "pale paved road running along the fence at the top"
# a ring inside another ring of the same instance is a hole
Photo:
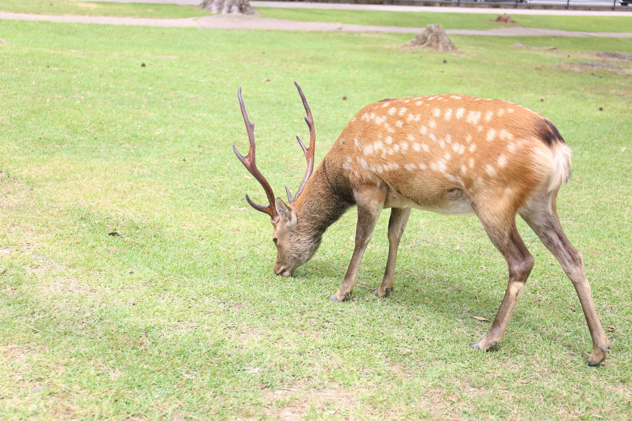
[[[99,0],[114,3],[162,3],[197,6],[201,0]],[[393,6],[389,4],[345,4],[345,3],[308,3],[303,1],[250,1],[252,6],[266,8],[295,9],[342,9],[342,10],[377,10],[377,11],[415,11],[444,13],[507,13],[507,15],[552,15],[552,16],[629,16],[630,11],[595,11],[595,10],[548,10],[548,9],[492,9],[492,8],[453,8],[442,6]],[[630,23],[632,26],[632,23]]]

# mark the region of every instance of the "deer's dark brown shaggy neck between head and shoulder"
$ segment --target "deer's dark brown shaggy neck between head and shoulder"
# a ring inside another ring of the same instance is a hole
[[[330,161],[331,162],[331,161]],[[353,205],[353,194],[327,158],[320,163],[296,199],[296,214],[301,229],[320,235]]]

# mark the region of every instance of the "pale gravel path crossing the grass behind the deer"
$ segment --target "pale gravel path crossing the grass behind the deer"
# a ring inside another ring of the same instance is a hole
[[[425,28],[371,27],[364,25],[344,25],[325,22],[301,22],[259,16],[214,15],[201,18],[155,19],[120,18],[116,16],[73,16],[73,15],[28,15],[26,13],[0,12],[0,19],[102,23],[107,25],[137,25],[146,27],[216,28],[216,29],[259,29],[288,31],[334,31],[334,32],[399,32],[420,33]],[[571,32],[542,28],[497,28],[490,30],[449,29],[455,35],[491,35],[495,37],[621,37],[632,38],[632,32]]]

